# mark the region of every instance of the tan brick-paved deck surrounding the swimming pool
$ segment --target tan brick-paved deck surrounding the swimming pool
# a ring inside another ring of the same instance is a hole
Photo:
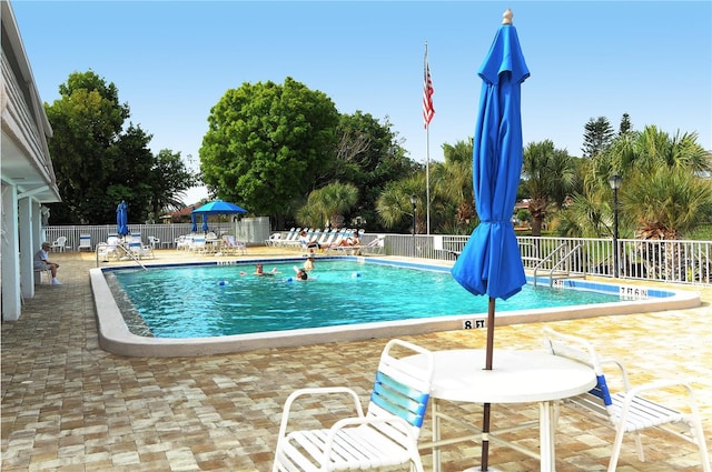
[[[171,250],[156,252],[154,261],[160,263],[215,259]],[[247,257],[294,254],[249,248]],[[194,358],[107,353],[98,345],[89,283],[89,269],[96,267],[93,253],[56,253],[52,260],[61,264],[63,285],[37,285],[36,298],[26,301],[20,320],[1,327],[3,472],[267,472],[281,406],[293,390],[346,384],[367,400],[384,339]],[[704,418],[708,445],[712,446],[712,288],[674,288],[700,292],[702,305],[497,327],[495,344],[498,349],[538,349],[542,327],[550,325],[585,337],[604,355],[622,360],[634,384],[661,378],[690,380]],[[433,350],[485,345],[484,330],[403,338]],[[659,400],[683,408],[674,394],[662,394]],[[328,406],[309,413],[327,422],[336,413]],[[455,415],[481,421],[478,406],[448,408]],[[494,405],[493,429],[536,414],[536,405]],[[429,428],[428,416],[425,439]],[[532,445],[537,431],[511,438]],[[606,469],[611,430],[564,412],[556,441],[557,471]],[[669,434],[645,432],[643,446],[645,463],[639,462],[632,439],[624,440],[619,471],[701,470],[694,445]],[[491,466],[503,472],[538,470],[536,460],[497,444],[491,445],[490,458]],[[429,469],[429,451],[423,451],[423,460]],[[443,461],[444,471],[477,465],[479,446],[446,446]]]

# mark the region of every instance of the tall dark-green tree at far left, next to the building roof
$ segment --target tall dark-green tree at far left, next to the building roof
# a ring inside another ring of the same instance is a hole
[[[129,222],[149,212],[154,157],[151,135],[126,120],[129,107],[118,89],[92,71],[73,72],[59,86],[60,99],[44,104],[55,134],[49,141],[62,202],[51,205],[53,224],[116,221],[125,200]]]

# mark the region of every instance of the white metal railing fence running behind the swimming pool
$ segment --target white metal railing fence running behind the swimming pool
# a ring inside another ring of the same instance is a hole
[[[144,243],[154,235],[162,247],[171,247],[176,238],[190,233],[189,223],[131,224],[131,232],[141,234]],[[90,234],[92,245],[106,241],[116,232],[116,224],[47,227],[47,241],[67,237],[67,247],[76,249],[80,234]],[[230,233],[230,223],[210,224],[210,231]],[[366,233],[362,244],[368,244],[378,234]],[[455,260],[469,239],[467,235],[384,234],[384,255],[398,255],[434,260]],[[265,238],[266,239],[266,238]],[[256,237],[253,245],[263,244]],[[594,238],[533,238],[517,237],[524,268],[543,277],[613,277],[613,241]],[[690,284],[712,284],[712,241],[647,241],[620,239],[619,277]]]

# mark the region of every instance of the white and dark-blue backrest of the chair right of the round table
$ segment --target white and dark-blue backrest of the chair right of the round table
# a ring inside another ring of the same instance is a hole
[[[610,410],[612,405],[611,392],[603,374],[601,358],[591,343],[582,338],[562,334],[551,328],[544,328],[544,345],[552,354],[571,359],[589,365],[596,374],[596,386],[578,396],[590,410],[614,418]]]

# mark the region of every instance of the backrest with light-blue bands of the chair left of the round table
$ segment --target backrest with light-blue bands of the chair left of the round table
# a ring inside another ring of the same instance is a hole
[[[426,358],[424,366],[416,366],[392,355],[395,347],[405,348],[409,354]],[[408,422],[412,433],[419,434],[433,382],[433,353],[419,345],[398,339],[390,340],[383,353],[376,372],[376,381],[368,404],[368,416],[396,415]],[[407,431],[379,426],[389,436],[402,436]]]

